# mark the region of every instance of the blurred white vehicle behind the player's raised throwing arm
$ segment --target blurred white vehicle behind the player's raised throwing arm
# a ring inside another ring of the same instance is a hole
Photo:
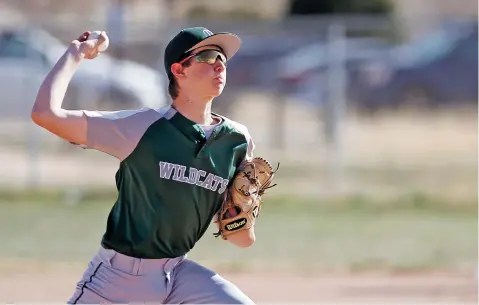
[[[1,117],[30,115],[41,82],[66,47],[44,30],[0,32]],[[158,71],[114,59],[108,51],[81,63],[64,100],[66,108],[91,110],[156,108],[167,103],[165,80]]]

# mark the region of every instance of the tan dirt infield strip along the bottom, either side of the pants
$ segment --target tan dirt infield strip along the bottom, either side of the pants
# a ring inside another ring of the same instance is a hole
[[[0,301],[65,302],[82,266],[24,263],[4,265]],[[473,274],[321,275],[227,274],[257,303],[427,302],[477,304]]]

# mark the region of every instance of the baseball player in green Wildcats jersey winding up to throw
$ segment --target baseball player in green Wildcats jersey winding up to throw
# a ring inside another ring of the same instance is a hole
[[[251,246],[261,195],[273,176],[267,161],[253,157],[247,128],[211,112],[240,38],[202,27],[179,32],[164,55],[173,100],[167,107],[63,109],[75,70],[99,54],[89,33],[73,40],[48,73],[31,114],[58,137],[119,160],[118,197],[101,246],[68,303],[252,303],[187,258],[212,221],[216,236]]]

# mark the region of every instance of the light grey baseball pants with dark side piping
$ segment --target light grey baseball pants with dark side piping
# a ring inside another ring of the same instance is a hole
[[[234,284],[185,256],[139,259],[100,248],[68,304],[254,304]]]

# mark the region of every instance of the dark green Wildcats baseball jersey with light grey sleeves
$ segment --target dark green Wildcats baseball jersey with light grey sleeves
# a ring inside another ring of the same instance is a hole
[[[252,158],[245,126],[216,115],[201,126],[168,106],[84,111],[87,144],[120,160],[118,197],[102,246],[139,258],[190,251],[219,210],[239,164]]]

